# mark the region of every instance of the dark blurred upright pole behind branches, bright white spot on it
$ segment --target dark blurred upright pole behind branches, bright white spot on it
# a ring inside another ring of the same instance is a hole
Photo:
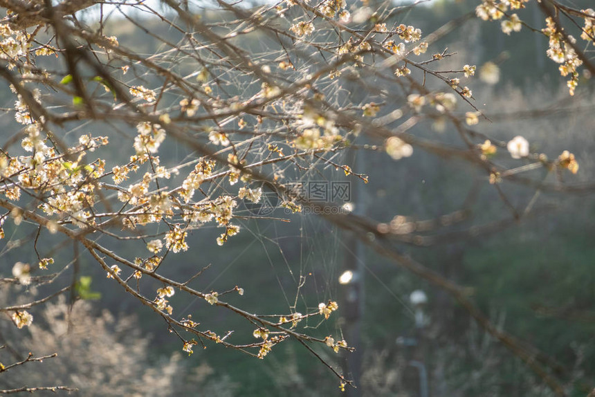
[[[357,172],[364,173],[363,151],[358,153],[359,161],[356,158],[356,149],[347,151],[347,164]],[[359,164],[359,165],[358,165]],[[354,205],[353,212],[364,215],[365,207],[362,199],[361,181],[350,178],[351,182],[351,204]],[[364,257],[363,244],[359,239],[349,232],[342,232],[345,250],[343,255],[343,268],[339,279],[340,288],[340,324],[342,326],[343,338],[349,347],[356,349],[353,353],[343,351],[341,366],[345,378],[353,380],[358,389],[345,388],[347,397],[361,396],[360,379],[363,360],[361,349],[361,317],[364,311]]]

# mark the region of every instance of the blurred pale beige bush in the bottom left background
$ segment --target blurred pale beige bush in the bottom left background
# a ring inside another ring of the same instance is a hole
[[[6,302],[11,288],[2,289]],[[31,362],[10,369],[2,389],[22,385],[68,385],[82,396],[176,396],[183,394],[191,371],[183,365],[181,353],[150,364],[149,338],[136,326],[134,315],[116,319],[108,311],[94,313],[89,301],[70,306],[64,296],[48,302],[30,326],[30,335],[3,322],[1,334],[12,341],[10,349],[17,356],[29,351],[46,356],[42,370]],[[17,330],[15,332],[15,330]],[[5,347],[6,349],[7,347]],[[60,352],[55,355],[56,352]],[[33,353],[29,353],[30,360]],[[199,367],[198,378],[206,380],[212,369]],[[217,387],[221,395],[232,392],[231,382],[208,380],[194,386]]]

